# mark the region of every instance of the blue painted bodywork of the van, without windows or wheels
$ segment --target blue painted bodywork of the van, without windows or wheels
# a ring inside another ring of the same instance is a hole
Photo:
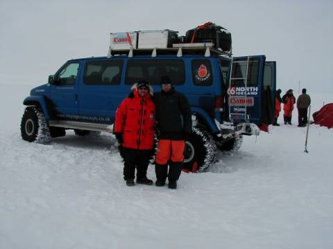
[[[246,57],[244,57],[246,58]],[[121,101],[130,93],[130,84],[126,84],[125,75],[126,68],[129,60],[133,59],[180,59],[185,65],[185,83],[176,85],[176,91],[185,93],[191,109],[197,116],[200,116],[205,121],[207,127],[215,133],[219,132],[218,127],[214,122],[216,119],[219,122],[223,122],[223,115],[220,112],[215,111],[215,98],[225,97],[223,94],[226,92],[224,85],[221,83],[221,68],[219,60],[223,59],[230,62],[230,59],[214,55],[211,57],[203,57],[202,55],[184,55],[182,57],[176,57],[176,55],[159,55],[157,57],[151,57],[149,55],[138,55],[135,57],[117,56],[117,57],[92,57],[83,59],[69,60],[64,66],[62,66],[56,73],[56,75],[67,64],[73,62],[79,62],[78,75],[71,85],[59,85],[59,84],[45,84],[37,87],[31,91],[31,96],[24,100],[24,104],[36,101],[40,103],[45,118],[49,120],[51,117],[80,120],[88,122],[101,122],[112,124],[114,122],[115,112]],[[210,60],[212,71],[212,84],[210,85],[197,85],[194,84],[194,77],[192,73],[192,61],[194,59]],[[264,71],[264,55],[257,56],[260,61],[259,66],[259,78],[258,78],[258,92],[261,91],[262,86],[262,73]],[[122,73],[120,84],[84,84],[83,73],[87,62],[101,60],[122,60]],[[228,73],[230,75],[230,73]],[[229,76],[228,76],[229,77]],[[157,83],[157,82],[150,82]],[[155,92],[160,91],[160,85],[153,84]],[[42,91],[44,89],[44,91]],[[51,104],[50,104],[51,103]],[[260,94],[254,97],[254,107],[249,107],[250,121],[258,123],[260,118],[259,108],[261,106]],[[51,115],[55,113],[55,115]],[[244,121],[241,118],[235,119],[234,122]]]

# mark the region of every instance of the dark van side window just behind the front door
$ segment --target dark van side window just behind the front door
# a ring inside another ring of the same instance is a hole
[[[122,67],[122,60],[87,62],[83,73],[83,83],[91,85],[120,84]]]

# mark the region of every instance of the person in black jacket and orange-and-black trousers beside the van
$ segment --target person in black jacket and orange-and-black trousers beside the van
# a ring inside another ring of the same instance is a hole
[[[185,138],[192,131],[191,107],[185,95],[171,85],[169,77],[162,77],[161,87],[162,91],[154,96],[156,124],[160,133],[155,156],[155,185],[164,186],[168,177],[169,188],[176,189],[182,172]]]

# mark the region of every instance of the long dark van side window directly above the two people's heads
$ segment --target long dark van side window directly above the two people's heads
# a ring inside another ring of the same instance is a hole
[[[158,85],[163,76],[169,76],[173,85],[185,84],[182,59],[129,59],[125,84],[146,80],[149,84]]]

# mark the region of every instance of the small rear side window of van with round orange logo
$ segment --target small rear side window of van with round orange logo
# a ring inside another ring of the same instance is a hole
[[[213,83],[212,65],[209,59],[192,60],[192,80],[199,86],[210,86]]]

